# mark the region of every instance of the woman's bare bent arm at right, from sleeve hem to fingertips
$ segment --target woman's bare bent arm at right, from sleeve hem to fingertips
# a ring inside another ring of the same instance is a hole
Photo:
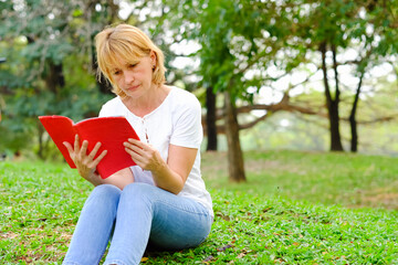
[[[196,148],[170,145],[166,162],[156,149],[145,142],[128,139],[125,147],[140,168],[153,173],[157,187],[175,194],[182,190],[198,152]]]

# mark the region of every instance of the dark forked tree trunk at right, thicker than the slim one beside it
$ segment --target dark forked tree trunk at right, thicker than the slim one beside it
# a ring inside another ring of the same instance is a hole
[[[339,103],[339,89],[338,84],[336,85],[335,98],[332,98],[331,88],[328,85],[327,77],[327,67],[326,67],[326,43],[322,43],[320,45],[320,51],[322,53],[322,72],[324,75],[324,85],[325,85],[325,97],[326,97],[326,106],[328,112],[329,119],[329,130],[331,130],[331,151],[343,151],[342,138],[339,132],[339,115],[338,115],[338,103]],[[334,52],[334,68],[335,74],[337,74],[337,64],[335,61],[335,52]],[[336,82],[338,78],[336,76]]]

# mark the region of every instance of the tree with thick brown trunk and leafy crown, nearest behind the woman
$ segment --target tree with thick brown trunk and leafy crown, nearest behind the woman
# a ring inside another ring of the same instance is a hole
[[[266,67],[276,62],[273,59],[290,34],[286,13],[279,14],[284,4],[198,0],[179,1],[170,10],[178,18],[177,34],[201,45],[196,53],[201,85],[224,98],[230,180],[245,181],[237,107],[239,102],[252,104],[254,94],[274,80]]]

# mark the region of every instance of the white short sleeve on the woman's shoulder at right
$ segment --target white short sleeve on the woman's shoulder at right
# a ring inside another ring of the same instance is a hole
[[[189,94],[184,100],[180,98],[176,106],[170,144],[199,149],[202,138],[201,106],[199,100]]]

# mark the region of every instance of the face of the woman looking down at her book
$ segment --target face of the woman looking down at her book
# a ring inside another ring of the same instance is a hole
[[[138,98],[153,88],[153,68],[156,62],[154,52],[139,61],[117,60],[117,62],[118,64],[111,68],[111,76],[126,96]]]

